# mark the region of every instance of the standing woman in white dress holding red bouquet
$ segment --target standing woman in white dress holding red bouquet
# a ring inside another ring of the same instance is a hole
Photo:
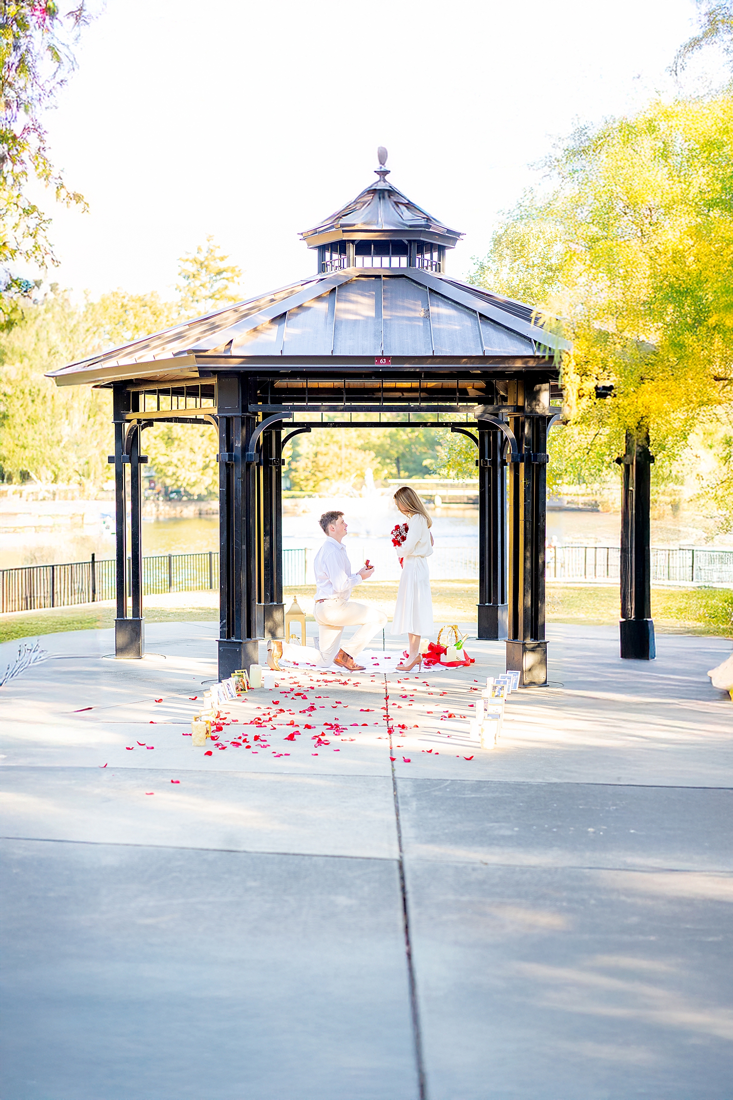
[[[422,668],[420,638],[433,632],[433,597],[425,560],[433,552],[433,536],[430,534],[433,521],[415,491],[408,485],[398,488],[395,503],[408,517],[408,536],[397,551],[404,564],[390,632],[408,635],[409,657],[397,668],[400,672],[409,672],[418,663]]]

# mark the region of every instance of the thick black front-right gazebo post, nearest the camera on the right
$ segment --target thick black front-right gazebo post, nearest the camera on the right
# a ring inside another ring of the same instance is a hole
[[[545,525],[549,384],[525,383],[524,410],[510,417],[521,448],[509,470],[509,639],[507,670],[520,685],[547,683],[545,640]],[[522,385],[517,385],[521,405]]]

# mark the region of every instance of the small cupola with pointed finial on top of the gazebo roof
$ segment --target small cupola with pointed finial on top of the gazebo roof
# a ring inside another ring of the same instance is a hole
[[[379,177],[313,229],[301,233],[318,250],[318,272],[346,267],[422,267],[442,274],[445,250],[463,237],[387,183],[387,150],[377,151]]]

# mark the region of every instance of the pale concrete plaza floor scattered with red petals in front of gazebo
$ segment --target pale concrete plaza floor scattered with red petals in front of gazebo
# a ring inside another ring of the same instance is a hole
[[[729,641],[555,626],[490,751],[477,641],[195,748],[216,634],[49,635],[0,691],[2,1100],[731,1096]]]

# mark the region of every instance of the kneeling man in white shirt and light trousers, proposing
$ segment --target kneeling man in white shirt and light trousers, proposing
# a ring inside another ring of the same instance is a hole
[[[366,644],[387,623],[384,612],[351,600],[355,584],[366,581],[374,573],[374,566],[363,565],[358,573],[352,572],[352,564],[343,544],[346,522],[343,512],[324,512],[319,524],[326,540],[315,554],[315,607],[313,615],[319,625],[319,647],[292,646],[285,641],[271,640],[267,644],[267,663],[270,669],[279,669],[278,661],[315,664],[329,668],[338,664],[349,672],[363,672],[364,666],[356,664]],[[351,641],[342,648],[341,638],[347,626],[359,626]]]

